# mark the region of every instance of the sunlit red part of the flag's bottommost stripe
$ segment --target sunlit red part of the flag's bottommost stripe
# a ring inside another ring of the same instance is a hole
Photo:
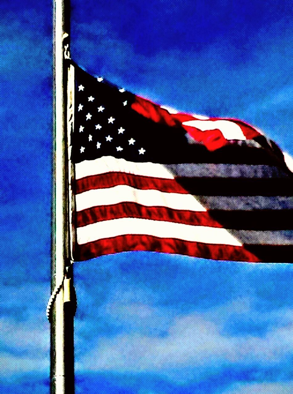
[[[260,262],[259,258],[241,246],[214,245],[173,238],[130,234],[77,245],[75,261],[135,250],[174,253],[212,260]]]

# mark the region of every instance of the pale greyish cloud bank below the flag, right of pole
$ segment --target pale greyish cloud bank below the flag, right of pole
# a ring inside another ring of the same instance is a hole
[[[96,347],[77,360],[77,370],[156,372],[176,379],[180,375],[186,381],[227,366],[267,368],[293,353],[293,313],[288,314],[284,327],[264,336],[225,335],[221,322],[198,313],[175,318],[162,337],[139,333],[100,336]]]

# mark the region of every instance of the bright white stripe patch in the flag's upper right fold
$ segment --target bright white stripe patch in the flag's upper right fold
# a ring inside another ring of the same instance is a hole
[[[183,122],[182,125],[192,126],[199,128],[199,130],[215,130],[218,128],[223,136],[226,139],[246,139],[244,136],[241,127],[236,123],[226,120],[217,120],[217,121],[202,121],[202,120],[194,120],[194,121],[186,121]]]

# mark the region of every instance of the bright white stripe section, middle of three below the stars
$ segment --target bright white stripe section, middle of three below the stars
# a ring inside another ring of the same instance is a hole
[[[190,194],[165,193],[160,190],[139,190],[127,185],[113,188],[88,190],[75,196],[76,210],[82,211],[93,206],[111,205],[123,202],[145,206],[165,206],[173,209],[205,212],[206,209]]]

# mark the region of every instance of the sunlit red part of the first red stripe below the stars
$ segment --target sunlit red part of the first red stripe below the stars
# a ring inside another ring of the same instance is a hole
[[[75,193],[79,194],[92,189],[112,188],[117,185],[128,185],[141,190],[153,189],[167,193],[188,194],[188,191],[182,188],[174,179],[145,177],[122,172],[110,172],[77,179],[75,182]]]

